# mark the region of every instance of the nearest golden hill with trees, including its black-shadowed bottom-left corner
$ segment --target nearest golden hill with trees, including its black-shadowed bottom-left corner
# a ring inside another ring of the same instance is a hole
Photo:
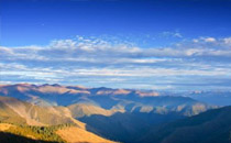
[[[6,143],[116,143],[76,124],[31,127],[0,123],[0,141]]]

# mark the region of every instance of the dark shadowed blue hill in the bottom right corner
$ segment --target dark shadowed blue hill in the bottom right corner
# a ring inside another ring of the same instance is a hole
[[[168,123],[151,131],[138,142],[231,143],[231,107]]]

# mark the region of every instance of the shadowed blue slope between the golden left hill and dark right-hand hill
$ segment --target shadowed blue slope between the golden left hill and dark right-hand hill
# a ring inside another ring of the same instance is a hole
[[[87,124],[88,131],[123,143],[132,143],[144,135],[151,127],[182,118],[184,117],[175,113],[118,112],[110,117],[94,114],[78,120]]]

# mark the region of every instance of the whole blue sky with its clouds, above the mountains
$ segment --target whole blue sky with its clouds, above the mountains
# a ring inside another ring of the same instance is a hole
[[[1,0],[0,84],[231,90],[231,0]]]

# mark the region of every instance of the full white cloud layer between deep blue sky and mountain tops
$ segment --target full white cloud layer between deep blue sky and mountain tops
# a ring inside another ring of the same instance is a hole
[[[199,37],[144,48],[77,36],[46,46],[0,46],[0,55],[1,82],[231,89],[231,37]]]

